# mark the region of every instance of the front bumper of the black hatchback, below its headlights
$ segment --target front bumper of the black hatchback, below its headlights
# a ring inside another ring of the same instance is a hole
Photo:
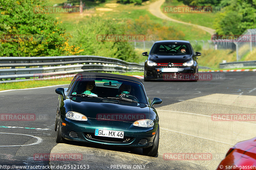
[[[144,79],[148,80],[196,80],[198,77],[196,66],[178,67],[177,72],[162,72],[161,67],[147,67],[144,69]]]

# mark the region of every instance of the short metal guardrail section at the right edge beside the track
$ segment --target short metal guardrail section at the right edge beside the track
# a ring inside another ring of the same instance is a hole
[[[246,68],[246,67],[256,67],[256,60],[220,63],[221,69],[234,69],[234,68]]]

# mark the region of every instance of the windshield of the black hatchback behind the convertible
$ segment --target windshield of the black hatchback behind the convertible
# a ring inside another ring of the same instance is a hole
[[[184,54],[192,54],[189,44],[184,43],[156,43],[150,54],[158,54],[158,55],[184,55]]]

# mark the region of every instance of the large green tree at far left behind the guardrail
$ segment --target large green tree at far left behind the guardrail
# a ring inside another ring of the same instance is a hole
[[[34,11],[47,5],[46,0],[0,0],[0,56],[66,53],[61,47],[68,37],[61,22],[51,14]]]

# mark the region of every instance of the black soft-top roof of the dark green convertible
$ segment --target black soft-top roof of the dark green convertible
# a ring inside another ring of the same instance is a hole
[[[132,77],[132,76],[124,76],[124,75],[119,75],[119,74],[111,74],[111,73],[99,73],[99,72],[80,72],[76,74],[77,77],[105,77],[105,78],[118,78],[118,79],[124,79],[124,80],[132,80],[132,81],[137,81],[140,82],[141,84],[142,81],[139,78]]]

